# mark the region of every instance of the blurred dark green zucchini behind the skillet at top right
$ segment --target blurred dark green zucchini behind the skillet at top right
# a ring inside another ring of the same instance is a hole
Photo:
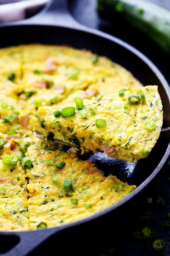
[[[143,0],[98,0],[102,17],[120,17],[146,33],[170,54],[170,12]]]

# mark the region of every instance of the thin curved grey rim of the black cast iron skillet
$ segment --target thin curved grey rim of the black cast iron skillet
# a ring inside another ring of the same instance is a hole
[[[75,24],[74,24],[75,25]],[[64,29],[72,29],[72,30],[77,30],[77,32],[81,31],[81,32],[85,32],[88,34],[92,34],[92,35],[96,35],[99,36],[101,38],[105,38],[107,40],[113,41],[114,43],[126,48],[128,51],[131,52],[131,54],[135,54],[139,59],[141,59],[143,62],[145,62],[145,64],[153,71],[153,73],[155,74],[155,76],[159,79],[159,81],[162,83],[163,88],[165,89],[165,92],[167,94],[168,100],[170,101],[170,87],[166,81],[166,79],[164,78],[163,74],[161,73],[161,71],[154,65],[154,63],[148,58],[146,57],[144,54],[142,54],[142,52],[140,52],[138,49],[136,49],[135,47],[131,46],[130,44],[126,43],[125,41],[114,37],[112,35],[109,35],[105,32],[99,31],[97,29],[93,29],[93,28],[88,28],[84,25],[78,25],[77,27],[74,27],[73,25],[56,25],[56,24],[46,24],[46,23],[35,23],[34,21],[31,21],[31,18],[29,20],[29,23],[24,23],[22,22],[12,22],[12,24],[10,23],[5,23],[5,24],[0,24],[1,28],[6,28],[6,27],[29,27],[29,26],[43,26],[43,27],[53,27],[54,29],[59,28],[64,28]],[[120,64],[121,65],[121,64]],[[152,180],[153,178],[159,173],[159,171],[161,170],[161,168],[163,167],[163,165],[165,164],[168,156],[170,154],[170,143],[167,146],[167,149],[165,151],[165,154],[163,155],[160,163],[158,164],[158,166],[154,169],[154,171],[134,190],[132,191],[130,194],[128,194],[126,197],[124,197],[123,199],[121,199],[119,202],[116,202],[114,205],[96,213],[93,214],[92,216],[89,216],[87,218],[78,220],[78,221],[74,221],[72,223],[68,223],[62,226],[56,226],[56,227],[51,227],[51,228],[47,228],[47,229],[42,229],[46,230],[46,232],[50,232],[50,231],[54,231],[51,234],[58,232],[62,229],[67,229],[67,228],[71,228],[73,226],[77,226],[77,225],[81,225],[85,222],[88,221],[92,221],[96,218],[99,218],[111,211],[113,211],[114,209],[122,206],[123,204],[125,204],[127,201],[129,201],[130,199],[132,199],[133,197],[135,197],[138,193],[141,192],[142,189],[144,189]],[[37,232],[40,230],[23,230],[23,231],[1,231],[1,234],[5,234],[5,235],[11,235],[11,234],[18,234],[19,236],[25,233],[32,233],[32,232]],[[42,241],[44,239],[42,238]],[[20,243],[20,242],[19,242]]]

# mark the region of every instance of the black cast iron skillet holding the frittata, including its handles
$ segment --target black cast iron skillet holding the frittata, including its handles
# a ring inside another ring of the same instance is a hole
[[[122,40],[77,23],[68,12],[67,0],[50,1],[33,18],[22,22],[3,24],[0,33],[0,47],[35,42],[65,44],[80,49],[86,48],[99,55],[109,57],[131,71],[144,85],[157,84],[159,86],[164,110],[163,127],[170,127],[170,89],[158,68],[141,52]],[[14,248],[1,255],[26,255],[52,234],[93,220],[120,207],[137,195],[158,174],[169,153],[169,137],[166,136],[166,138],[158,140],[147,158],[139,160],[135,164],[118,159],[108,159],[105,154],[99,152],[91,155],[89,159],[93,159],[105,175],[112,173],[122,180],[125,180],[125,176],[127,176],[128,183],[137,185],[137,188],[115,205],[71,224],[35,231],[1,232],[0,236],[3,239],[6,238],[6,242],[10,241],[10,236],[12,239],[18,237],[19,241]]]

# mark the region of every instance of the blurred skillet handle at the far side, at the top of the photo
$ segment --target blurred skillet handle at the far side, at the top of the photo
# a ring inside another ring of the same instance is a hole
[[[17,22],[8,22],[9,25],[59,25],[71,28],[83,28],[84,25],[77,22],[69,12],[68,0],[50,0],[48,4],[36,15]]]

